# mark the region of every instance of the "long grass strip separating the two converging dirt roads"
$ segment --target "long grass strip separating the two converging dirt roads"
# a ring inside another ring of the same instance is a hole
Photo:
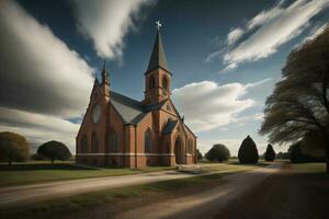
[[[247,172],[258,165],[237,165],[237,164],[218,164],[217,168],[208,166],[213,173],[207,175],[196,175],[189,178],[170,180],[156,182],[144,185],[127,186],[115,189],[103,189],[99,192],[86,193],[81,195],[56,198],[24,206],[14,206],[1,209],[0,218],[60,218],[71,212],[92,208],[101,205],[115,204],[118,200],[125,200],[133,197],[147,197],[149,192],[170,193],[177,189],[185,189],[197,186],[214,180],[220,180],[223,176]]]

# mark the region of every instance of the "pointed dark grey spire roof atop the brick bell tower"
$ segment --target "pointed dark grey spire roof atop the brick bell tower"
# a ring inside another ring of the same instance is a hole
[[[160,31],[157,33],[154,50],[147,67],[147,72],[159,67],[169,72]]]

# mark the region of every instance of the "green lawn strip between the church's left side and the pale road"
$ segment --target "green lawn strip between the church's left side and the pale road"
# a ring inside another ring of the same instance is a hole
[[[98,169],[92,166],[79,166],[72,161],[56,162],[54,165],[45,161],[13,163],[12,166],[9,166],[7,163],[1,163],[0,187],[77,178],[129,175],[173,169],[174,168],[170,166],[151,166],[144,169]]]

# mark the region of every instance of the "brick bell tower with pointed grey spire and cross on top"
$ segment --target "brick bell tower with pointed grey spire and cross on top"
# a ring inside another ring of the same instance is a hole
[[[154,104],[170,99],[171,73],[168,68],[167,58],[163,49],[160,22],[157,21],[157,36],[145,72],[145,104]]]

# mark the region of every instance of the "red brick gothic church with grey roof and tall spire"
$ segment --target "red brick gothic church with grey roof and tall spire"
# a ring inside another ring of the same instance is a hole
[[[159,27],[159,26],[158,26]],[[144,100],[111,90],[103,66],[76,139],[77,162],[144,168],[196,163],[196,136],[171,101],[171,79],[158,28],[145,77]]]

